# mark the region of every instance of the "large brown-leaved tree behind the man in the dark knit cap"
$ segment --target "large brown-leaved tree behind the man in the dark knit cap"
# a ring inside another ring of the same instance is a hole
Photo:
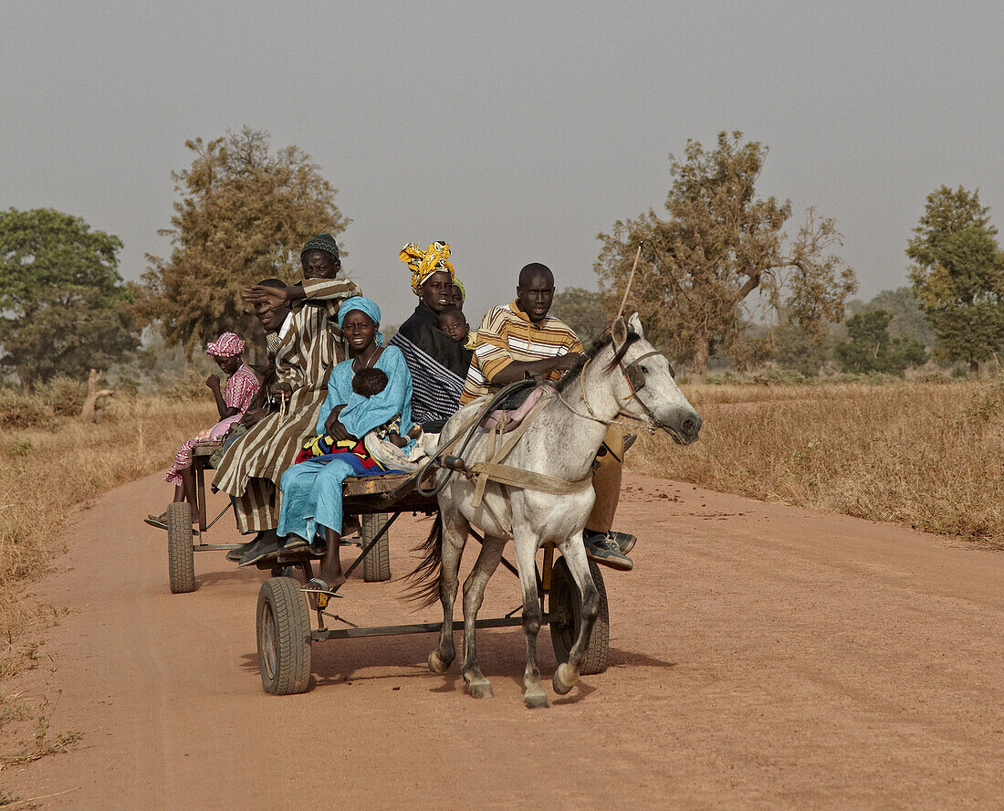
[[[303,243],[321,232],[337,236],[349,220],[310,156],[295,146],[273,155],[267,133],[245,127],[185,146],[195,159],[171,175],[181,199],[172,227],[161,231],[171,237],[171,257],[148,255],[143,312],[191,357],[226,330],[263,342],[241,290],[268,276],[291,279]]]

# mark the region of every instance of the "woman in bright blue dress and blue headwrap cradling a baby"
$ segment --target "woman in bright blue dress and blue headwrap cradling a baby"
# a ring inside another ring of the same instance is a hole
[[[317,418],[317,433],[335,442],[360,440],[367,431],[400,417],[412,424],[412,375],[397,347],[383,347],[380,308],[369,298],[354,296],[338,311],[338,327],[348,345],[350,359],[331,370],[327,398]],[[363,369],[376,368],[388,378],[383,391],[364,397],[352,391],[352,378]],[[278,535],[286,537],[285,550],[311,544],[323,533],[327,552],[319,578],[326,589],[345,582],[338,554],[342,532],[341,485],[347,476],[383,473],[385,468],[363,461],[357,452],[337,452],[294,464],[282,474],[282,509]]]

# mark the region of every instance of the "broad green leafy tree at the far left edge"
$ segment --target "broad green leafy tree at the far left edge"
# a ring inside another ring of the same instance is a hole
[[[117,236],[51,208],[0,212],[0,368],[25,393],[135,350],[133,291]]]

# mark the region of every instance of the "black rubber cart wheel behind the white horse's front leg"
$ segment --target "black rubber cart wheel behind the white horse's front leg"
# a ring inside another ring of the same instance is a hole
[[[599,613],[592,626],[589,646],[582,659],[582,675],[601,673],[606,669],[606,656],[610,648],[610,613],[606,605],[606,588],[599,567],[589,561],[589,574],[599,592]],[[551,570],[551,590],[547,595],[547,611],[555,619],[551,621],[551,645],[558,662],[568,661],[568,652],[578,636],[582,622],[582,598],[572,580],[571,572],[564,558],[558,558]]]

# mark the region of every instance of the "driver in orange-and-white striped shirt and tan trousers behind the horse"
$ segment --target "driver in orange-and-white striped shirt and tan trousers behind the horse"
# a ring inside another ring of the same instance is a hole
[[[478,328],[474,357],[467,370],[460,404],[501,390],[528,374],[555,381],[571,369],[582,353],[574,331],[548,316],[554,299],[550,268],[532,262],[519,271],[516,298],[493,307]],[[634,563],[624,553],[635,537],[610,530],[620,495],[623,436],[610,427],[600,447],[600,467],[593,475],[596,501],[585,523],[585,553],[596,563],[628,571]]]

